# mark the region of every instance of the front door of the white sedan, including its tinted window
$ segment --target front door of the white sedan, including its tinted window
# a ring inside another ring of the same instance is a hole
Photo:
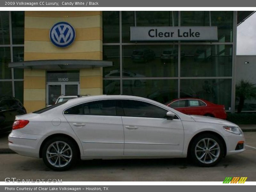
[[[124,155],[178,155],[183,152],[183,125],[167,110],[139,100],[122,100]]]

